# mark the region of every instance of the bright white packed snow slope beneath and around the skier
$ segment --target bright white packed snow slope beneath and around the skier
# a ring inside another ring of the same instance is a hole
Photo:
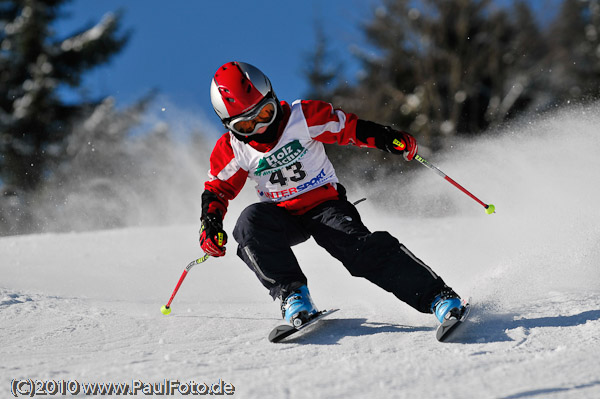
[[[351,277],[312,241],[296,254],[313,299],[341,310],[271,344],[279,305],[233,242],[224,258],[192,269],[172,313],[160,313],[202,255],[195,220],[6,237],[0,396],[15,379],[167,379],[222,380],[239,398],[599,398],[599,111],[564,110],[429,158],[495,204],[494,215],[425,168],[386,186],[396,209],[358,206],[371,230],[391,231],[473,298],[453,342],[435,340],[432,315]],[[228,231],[250,200],[251,189],[234,201]]]

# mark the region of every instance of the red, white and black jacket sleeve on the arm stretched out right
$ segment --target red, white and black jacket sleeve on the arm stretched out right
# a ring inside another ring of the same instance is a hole
[[[310,136],[325,144],[355,145],[397,152],[393,141],[404,132],[375,122],[358,119],[355,114],[334,109],[322,101],[302,101],[302,111]]]

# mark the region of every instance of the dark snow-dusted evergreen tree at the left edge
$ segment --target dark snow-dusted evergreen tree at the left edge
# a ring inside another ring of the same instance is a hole
[[[66,104],[61,85],[77,87],[86,71],[108,62],[127,41],[120,18],[57,38],[52,24],[65,0],[0,2],[0,181],[31,192],[65,154],[73,118],[94,104]],[[1,183],[0,183],[1,184]]]

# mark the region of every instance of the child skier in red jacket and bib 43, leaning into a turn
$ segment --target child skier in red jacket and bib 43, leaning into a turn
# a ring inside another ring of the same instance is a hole
[[[318,310],[291,247],[311,236],[353,276],[364,277],[440,322],[463,312],[460,297],[391,234],[369,231],[325,154],[323,144],[352,144],[417,154],[410,134],[359,119],[329,103],[279,101],[259,69],[229,62],[214,75],[213,108],[228,132],[217,141],[202,194],[200,246],[225,255],[223,218],[246,182],[260,202],[239,216],[233,237],[237,255],[256,274],[282,317],[299,326]]]

